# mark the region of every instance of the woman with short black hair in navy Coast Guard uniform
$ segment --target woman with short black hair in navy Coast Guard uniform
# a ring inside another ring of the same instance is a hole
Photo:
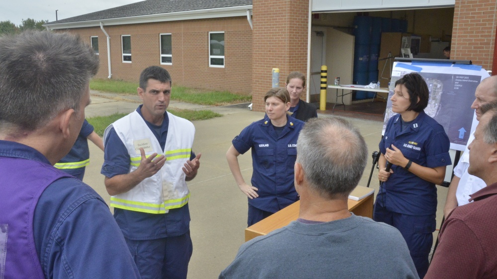
[[[449,139],[443,127],[424,113],[428,86],[418,73],[409,73],[395,82],[390,98],[392,111],[380,141],[382,183],[376,197],[373,219],[400,230],[406,240],[419,278],[428,269],[428,254],[436,227],[437,196],[445,168],[451,164]],[[385,170],[387,163],[392,167]]]

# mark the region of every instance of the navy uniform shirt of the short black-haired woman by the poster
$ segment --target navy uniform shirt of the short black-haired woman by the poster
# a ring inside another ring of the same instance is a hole
[[[380,141],[382,154],[393,144],[407,159],[418,165],[435,168],[451,164],[447,134],[424,111],[419,113],[410,127],[401,131],[401,115],[397,114],[388,121],[385,135]],[[380,187],[376,202],[393,212],[410,215],[435,214],[435,184],[417,177],[403,167],[392,166],[394,173]]]

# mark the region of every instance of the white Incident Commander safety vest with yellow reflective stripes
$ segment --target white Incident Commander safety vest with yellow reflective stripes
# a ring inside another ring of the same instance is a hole
[[[141,162],[140,147],[148,157],[153,153],[166,156],[162,169],[152,177],[144,179],[126,193],[110,197],[110,206],[146,213],[167,213],[188,203],[190,192],[185,182],[183,164],[190,159],[195,136],[193,124],[167,112],[169,128],[165,150],[137,111],[117,120],[105,129],[104,140],[114,127],[131,157],[130,172]]]

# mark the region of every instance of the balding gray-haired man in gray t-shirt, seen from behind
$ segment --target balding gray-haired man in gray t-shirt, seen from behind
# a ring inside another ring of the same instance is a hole
[[[309,120],[297,141],[299,218],[242,245],[219,278],[418,278],[396,228],[348,211],[366,161],[346,120]]]

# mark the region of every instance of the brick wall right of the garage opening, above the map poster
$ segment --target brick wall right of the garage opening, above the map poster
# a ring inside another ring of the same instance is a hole
[[[497,27],[496,0],[456,0],[450,58],[492,70]]]

